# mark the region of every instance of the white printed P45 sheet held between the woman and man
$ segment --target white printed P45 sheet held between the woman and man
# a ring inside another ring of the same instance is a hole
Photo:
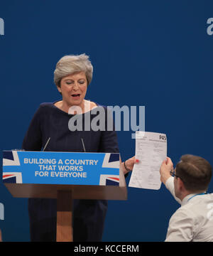
[[[136,132],[136,159],[129,186],[134,188],[159,189],[160,166],[167,156],[165,134]]]

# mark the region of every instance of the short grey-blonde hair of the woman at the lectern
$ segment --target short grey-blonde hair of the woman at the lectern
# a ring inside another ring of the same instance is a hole
[[[54,71],[55,85],[60,87],[60,81],[62,78],[82,71],[85,73],[87,85],[89,85],[92,80],[93,67],[88,55],[85,53],[80,55],[65,55],[64,57],[60,58],[56,64]]]

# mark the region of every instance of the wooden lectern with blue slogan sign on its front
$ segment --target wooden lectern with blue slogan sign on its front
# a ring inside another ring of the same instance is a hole
[[[3,183],[16,198],[57,198],[58,242],[72,242],[72,199],[126,200],[118,153],[3,151]]]

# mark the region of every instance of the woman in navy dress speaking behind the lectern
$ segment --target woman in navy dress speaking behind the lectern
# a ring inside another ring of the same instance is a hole
[[[42,103],[35,112],[22,148],[27,151],[72,151],[72,152],[110,152],[118,153],[119,147],[114,129],[84,129],[84,119],[99,104],[85,100],[89,83],[92,80],[93,67],[89,56],[66,55],[55,68],[54,82],[62,95],[62,100]],[[70,129],[70,118],[77,113],[82,118],[82,129]],[[72,110],[72,111],[70,111]],[[107,112],[107,107],[104,107]],[[90,122],[97,114],[90,114]],[[107,117],[107,114],[106,114]],[[87,119],[88,120],[88,119]],[[88,125],[87,125],[88,127]],[[131,171],[134,159],[121,164],[126,174]],[[29,198],[28,210],[31,241],[55,241],[56,239],[56,199]],[[73,240],[101,241],[104,220],[107,213],[107,201],[73,200]]]

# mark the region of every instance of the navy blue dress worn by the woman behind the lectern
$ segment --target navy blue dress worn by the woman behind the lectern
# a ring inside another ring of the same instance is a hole
[[[71,132],[68,122],[73,115],[55,107],[54,103],[42,103],[35,112],[23,139],[23,149],[40,151],[50,137],[45,151],[83,152],[85,147],[87,152],[119,152],[116,132],[114,129],[107,131],[107,112],[109,111],[107,107],[104,107],[105,131],[103,129],[97,132],[92,129],[84,130],[86,115],[90,115],[92,122],[92,119],[99,114],[99,112],[97,114],[86,112],[82,116],[78,115],[82,117],[82,131]],[[97,108],[99,107],[98,105]],[[56,209],[56,199],[28,199],[31,241],[56,240]],[[107,201],[73,200],[73,240],[77,242],[101,241],[106,213]]]

